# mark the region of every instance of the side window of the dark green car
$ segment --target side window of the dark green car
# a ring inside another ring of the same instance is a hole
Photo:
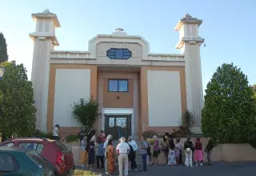
[[[15,172],[19,170],[17,160],[12,154],[0,153],[0,173]]]

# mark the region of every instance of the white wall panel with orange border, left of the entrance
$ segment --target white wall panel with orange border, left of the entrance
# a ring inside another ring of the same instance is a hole
[[[78,133],[81,125],[71,117],[71,103],[79,98],[97,100],[97,66],[51,64],[48,97],[47,131],[51,133],[58,122],[62,135]]]

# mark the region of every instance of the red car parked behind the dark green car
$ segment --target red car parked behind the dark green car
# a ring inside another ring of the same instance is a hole
[[[71,150],[56,140],[12,138],[2,142],[0,147],[22,147],[36,150],[54,166],[57,175],[71,175],[74,171],[74,158]]]

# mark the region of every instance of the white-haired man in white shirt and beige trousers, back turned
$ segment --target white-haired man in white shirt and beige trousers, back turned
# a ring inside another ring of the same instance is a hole
[[[119,176],[127,176],[130,146],[126,143],[126,138],[120,138],[120,143],[118,143],[116,152],[118,154]]]

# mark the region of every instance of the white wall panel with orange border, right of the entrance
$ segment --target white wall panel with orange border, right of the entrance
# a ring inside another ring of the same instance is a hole
[[[181,114],[186,110],[184,67],[142,66],[140,75],[141,131],[155,130],[162,133],[177,129]],[[162,122],[155,118],[161,118]]]

